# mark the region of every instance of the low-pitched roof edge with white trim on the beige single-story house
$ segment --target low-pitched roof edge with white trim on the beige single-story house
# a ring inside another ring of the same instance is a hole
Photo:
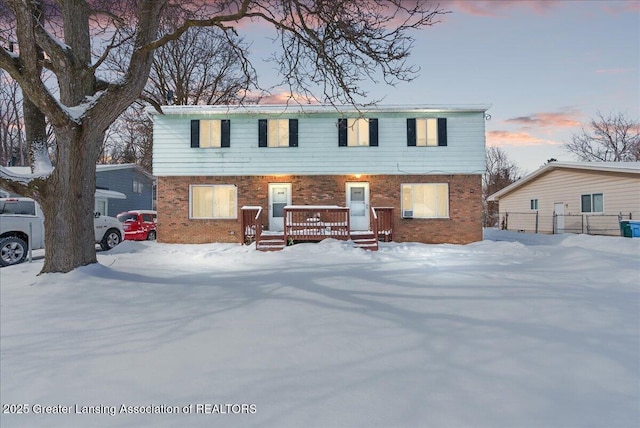
[[[571,169],[576,171],[602,171],[602,172],[618,172],[627,174],[640,175],[640,162],[549,162],[540,169],[521,178],[515,183],[496,193],[490,195],[487,200],[489,202],[500,201],[500,198],[514,192],[515,190],[536,180],[539,176],[549,173],[556,169]]]

